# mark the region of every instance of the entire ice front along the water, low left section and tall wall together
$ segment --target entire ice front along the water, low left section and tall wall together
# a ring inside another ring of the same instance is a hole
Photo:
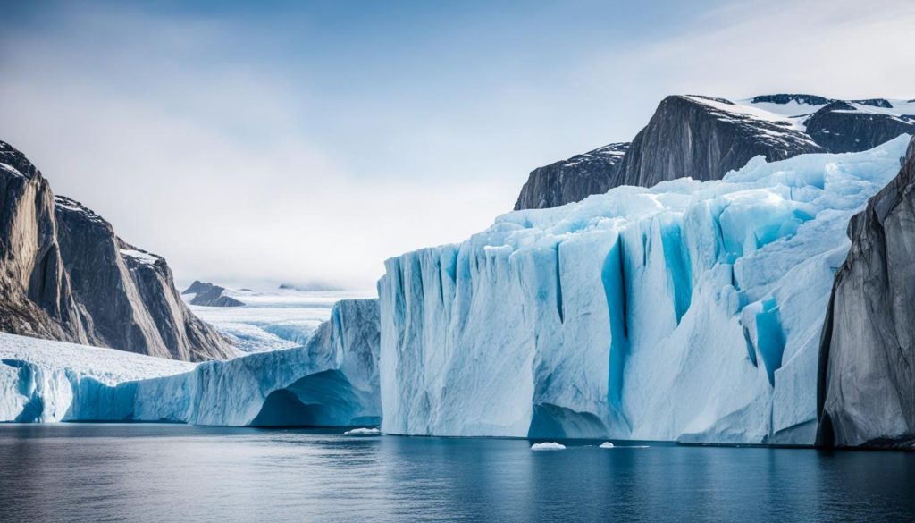
[[[388,260],[305,347],[194,366],[5,335],[0,419],[812,444],[845,228],[907,143],[510,212]]]

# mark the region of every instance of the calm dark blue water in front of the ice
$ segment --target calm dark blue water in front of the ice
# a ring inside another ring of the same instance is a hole
[[[5,425],[0,521],[915,519],[911,453],[530,444]]]

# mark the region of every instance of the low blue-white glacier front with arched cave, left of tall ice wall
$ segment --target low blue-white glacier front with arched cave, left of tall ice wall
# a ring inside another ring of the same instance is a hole
[[[341,300],[302,347],[199,365],[2,334],[0,420],[377,425],[377,300]]]

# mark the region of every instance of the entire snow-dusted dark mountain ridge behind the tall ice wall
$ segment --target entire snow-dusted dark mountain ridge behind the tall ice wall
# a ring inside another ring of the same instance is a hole
[[[812,152],[858,152],[912,133],[915,101],[839,101],[812,94],[737,102],[669,96],[631,146],[613,144],[534,169],[514,208],[555,207],[619,185],[651,187],[684,176],[719,180],[759,155],[773,161]],[[612,161],[583,161],[600,158],[595,153],[608,147],[617,153]]]

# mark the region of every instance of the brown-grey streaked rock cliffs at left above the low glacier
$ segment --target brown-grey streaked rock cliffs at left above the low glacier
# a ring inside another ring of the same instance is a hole
[[[55,197],[3,142],[0,186],[0,329],[187,361],[233,354],[180,300],[163,258],[127,244],[79,202]]]

